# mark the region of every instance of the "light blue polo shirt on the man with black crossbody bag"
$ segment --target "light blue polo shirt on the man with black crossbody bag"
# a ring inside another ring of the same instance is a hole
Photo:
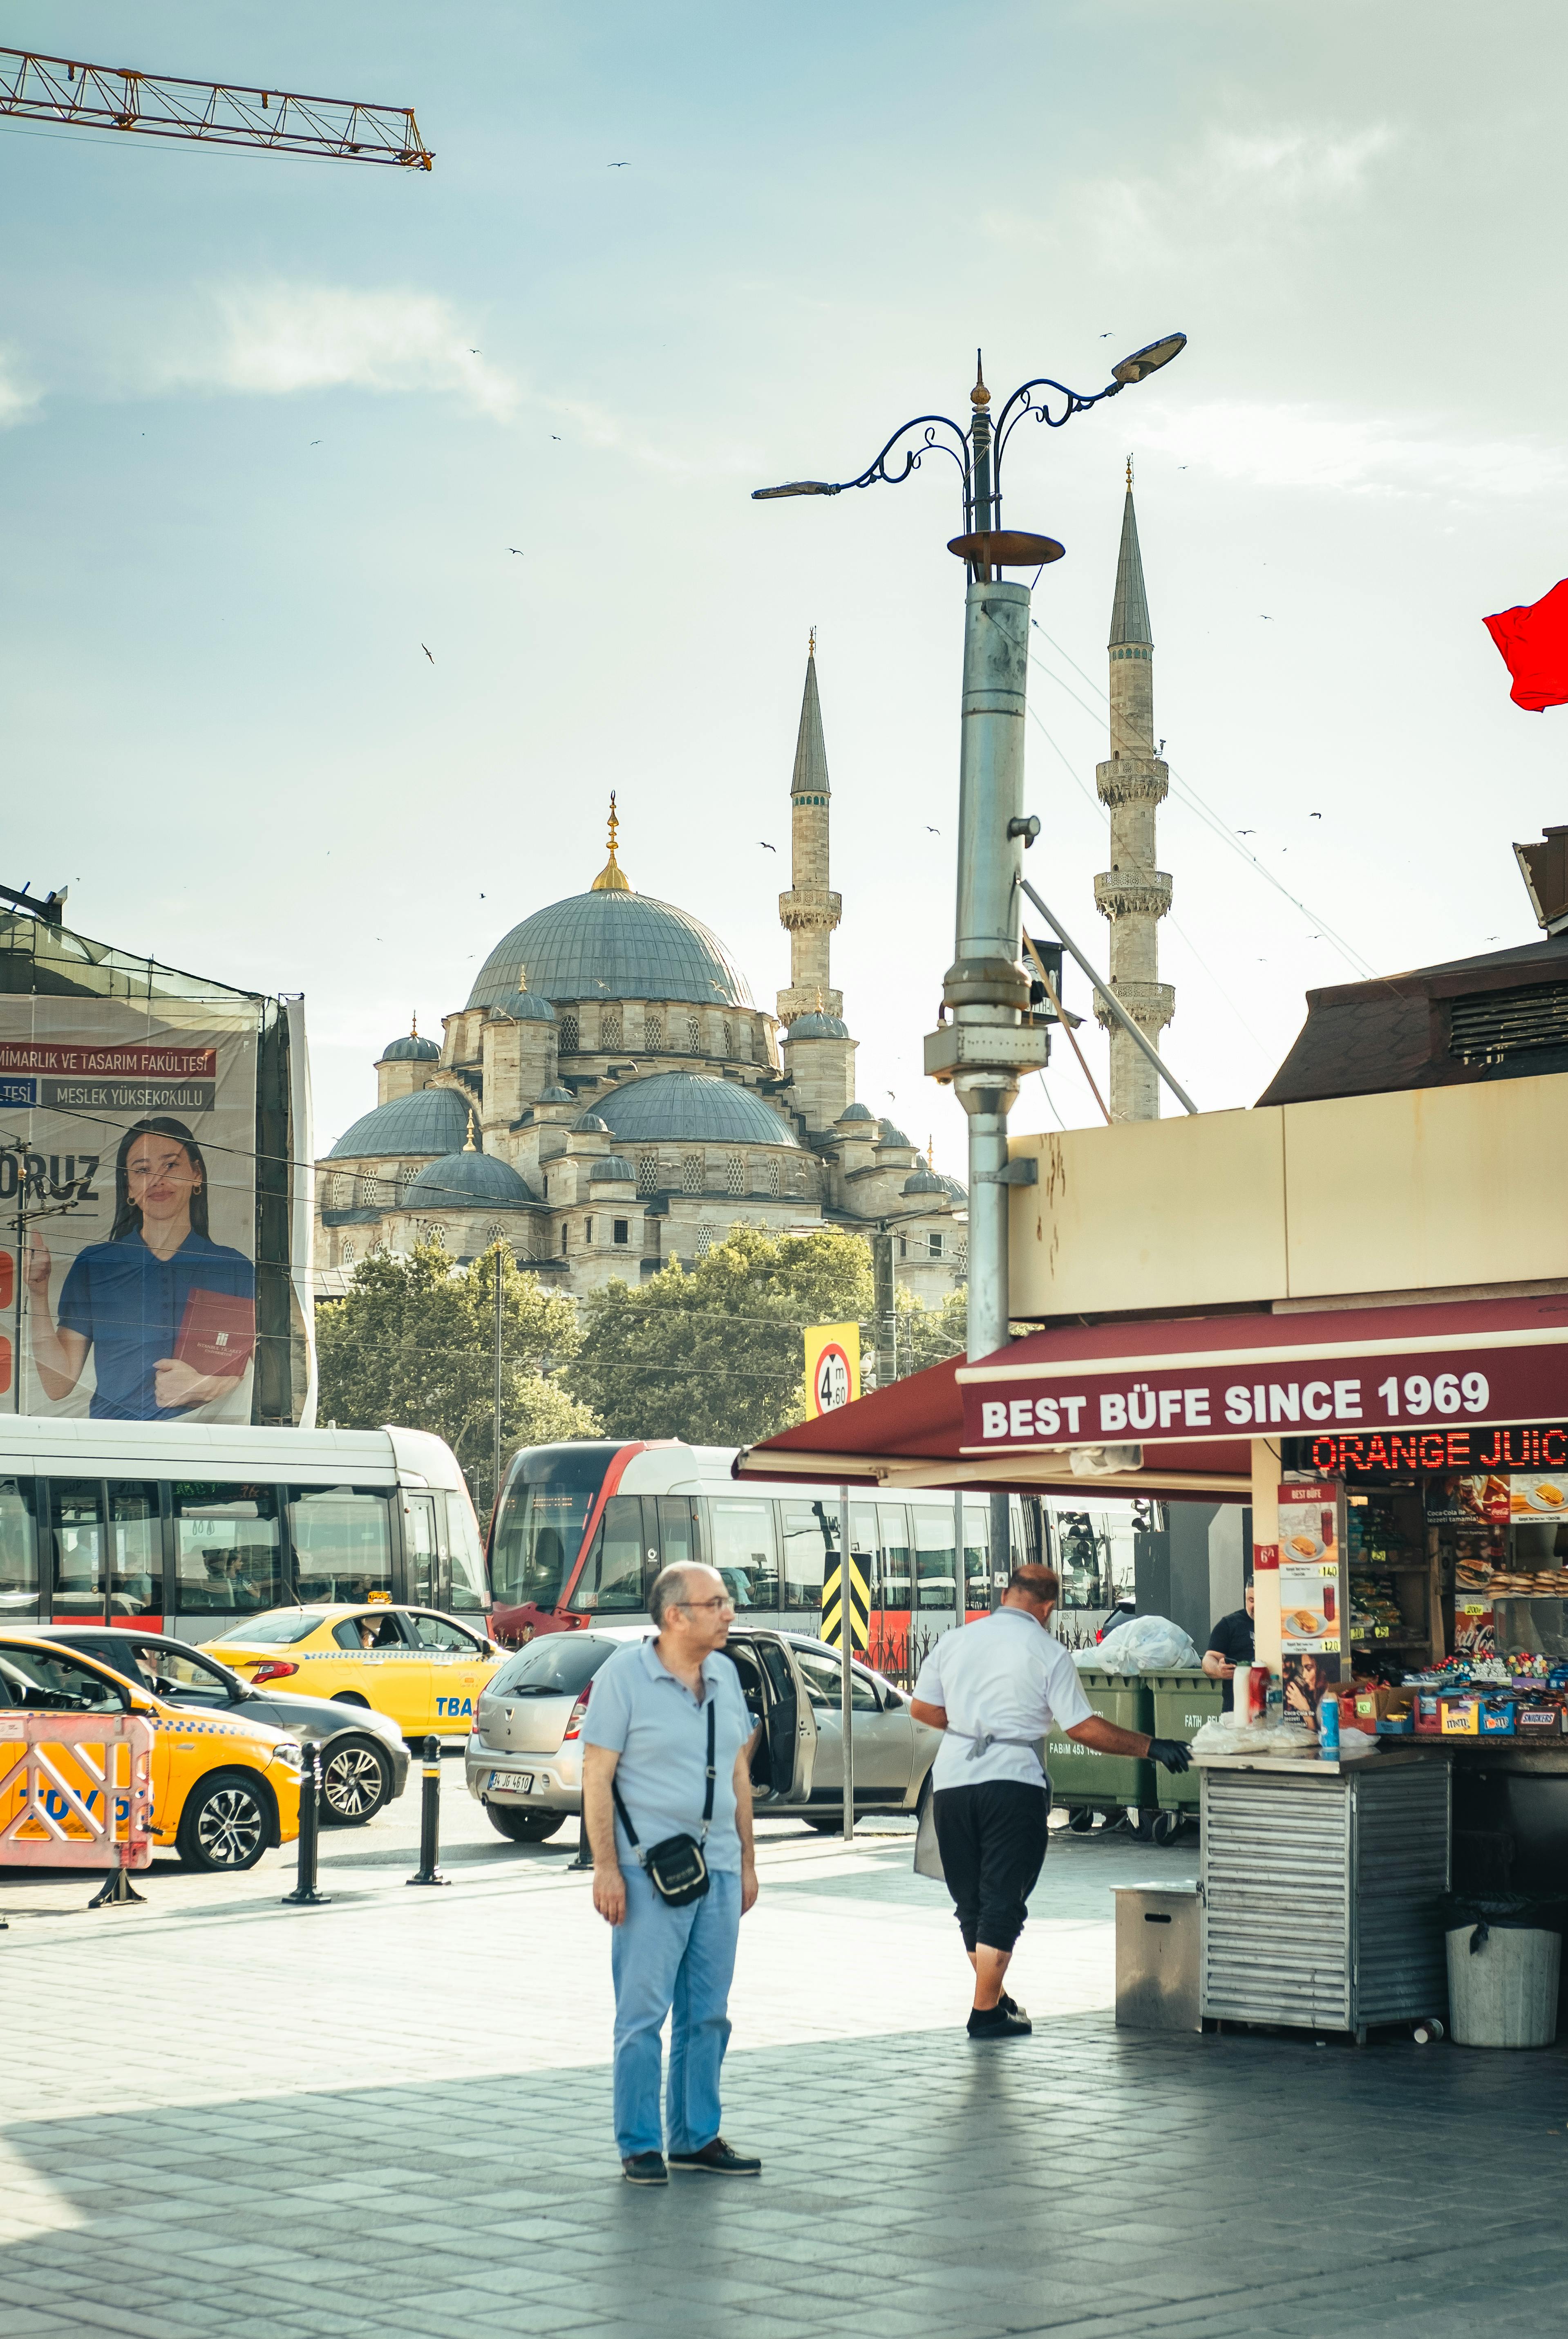
[[[740,1672],[716,1649],[702,1658],[702,1705],[658,1654],[653,1640],[630,1642],[594,1672],[583,1717],[590,1747],[620,1754],[615,1785],[646,1852],[665,1836],[702,1836],[707,1792],[707,1700],[714,1698],[714,1817],[707,1864],[740,1874],[735,1829],[735,1757],[756,1724],[747,1712]],[[615,1813],[615,1850],[637,1857]]]

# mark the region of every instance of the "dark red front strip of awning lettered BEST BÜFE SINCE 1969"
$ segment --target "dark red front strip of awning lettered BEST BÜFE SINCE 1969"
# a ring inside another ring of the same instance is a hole
[[[1409,1350],[1172,1371],[997,1368],[964,1382],[964,1453],[1126,1441],[1212,1443],[1556,1422],[1568,1415],[1568,1340]]]

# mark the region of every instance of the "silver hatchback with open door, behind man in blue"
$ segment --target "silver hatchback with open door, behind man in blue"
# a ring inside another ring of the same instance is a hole
[[[468,1736],[468,1794],[513,1843],[543,1843],[583,1810],[583,1719],[594,1672],[651,1626],[548,1633],[491,1675]],[[798,1813],[828,1834],[843,1822],[843,1679],[838,1649],[803,1633],[733,1630],[725,1649],[761,1724],[751,1754],[758,1813]],[[917,1810],[941,1731],[857,1661],[850,1689],[854,1810]]]

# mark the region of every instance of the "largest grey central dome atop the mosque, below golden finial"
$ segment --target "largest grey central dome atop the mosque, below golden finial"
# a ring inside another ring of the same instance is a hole
[[[716,933],[648,893],[587,891],[513,926],[480,968],[470,1008],[508,1008],[524,980],[543,999],[690,999],[749,1008],[751,989]]]

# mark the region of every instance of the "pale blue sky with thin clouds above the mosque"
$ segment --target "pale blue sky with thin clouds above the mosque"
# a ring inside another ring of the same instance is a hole
[[[1313,985],[1533,938],[1509,844],[1568,819],[1568,711],[1509,704],[1481,615],[1568,571],[1549,0],[0,23],[412,103],[438,157],[0,124],[0,882],[302,989],[323,1141],[412,1010],[435,1031],[510,924],[587,884],[611,788],[632,882],[772,1003],[814,625],[859,1088],[962,1170],[920,1076],[953,940],[955,491],[929,465],[835,503],[749,489],[964,412],[976,344],[1006,393],[1191,337],[1020,437],[1009,519],[1067,545],[1034,599],[1030,875],[1102,959],[1135,454],[1168,1053],[1198,1102],[1259,1092]],[[1053,1113],[1095,1118],[1070,1057],[1016,1127]]]

